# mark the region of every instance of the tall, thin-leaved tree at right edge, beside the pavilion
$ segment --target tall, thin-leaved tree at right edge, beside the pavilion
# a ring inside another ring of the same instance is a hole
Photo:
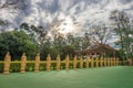
[[[114,31],[119,36],[117,44],[126,58],[131,57],[133,52],[133,22],[124,11],[114,10],[111,12],[110,19],[113,23]],[[124,59],[124,58],[123,58]]]

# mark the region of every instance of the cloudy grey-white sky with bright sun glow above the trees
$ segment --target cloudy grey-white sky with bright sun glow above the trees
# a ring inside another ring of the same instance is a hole
[[[10,28],[27,22],[62,33],[109,23],[112,10],[123,10],[132,18],[133,0],[0,0],[0,19],[9,21]]]

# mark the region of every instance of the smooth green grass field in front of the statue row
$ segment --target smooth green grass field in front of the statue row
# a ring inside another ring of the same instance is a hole
[[[133,88],[133,66],[0,74],[0,88]]]

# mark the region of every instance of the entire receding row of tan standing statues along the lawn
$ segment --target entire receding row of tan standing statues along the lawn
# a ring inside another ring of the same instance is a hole
[[[89,68],[93,68],[94,66],[95,67],[106,67],[106,66],[116,66],[119,65],[119,59],[116,58],[109,58],[109,59],[103,59],[103,58],[95,58],[95,59],[91,59],[89,56],[86,56],[85,59],[83,59],[82,57],[80,57],[80,61],[78,61],[78,57],[74,56],[72,63],[73,63],[73,69],[76,69],[78,67],[78,63],[80,63],[80,68],[83,68],[83,65],[84,65],[84,62],[85,62],[85,67]],[[34,72],[38,73],[39,72],[39,67],[40,67],[40,54],[37,54],[35,56],[35,62],[34,62]],[[48,54],[48,57],[47,57],[47,70],[50,70],[51,69],[51,56],[50,54]],[[70,68],[70,57],[69,55],[66,55],[65,57],[65,69],[68,70]],[[3,66],[3,74],[4,75],[8,75],[10,74],[10,64],[11,64],[11,55],[10,53],[7,53],[6,54],[6,57],[4,57],[4,66]],[[25,67],[27,67],[27,56],[25,56],[25,53],[22,54],[21,56],[21,68],[20,68],[20,73],[25,73]],[[60,55],[58,55],[57,57],[57,66],[55,66],[55,69],[57,70],[60,70],[61,69],[61,58],[60,58]]]

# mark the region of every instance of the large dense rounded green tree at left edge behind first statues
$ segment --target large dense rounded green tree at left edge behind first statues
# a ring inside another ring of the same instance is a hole
[[[0,55],[2,59],[7,52],[11,53],[13,61],[20,59],[22,53],[27,53],[29,58],[37,53],[37,46],[22,31],[0,33]]]

